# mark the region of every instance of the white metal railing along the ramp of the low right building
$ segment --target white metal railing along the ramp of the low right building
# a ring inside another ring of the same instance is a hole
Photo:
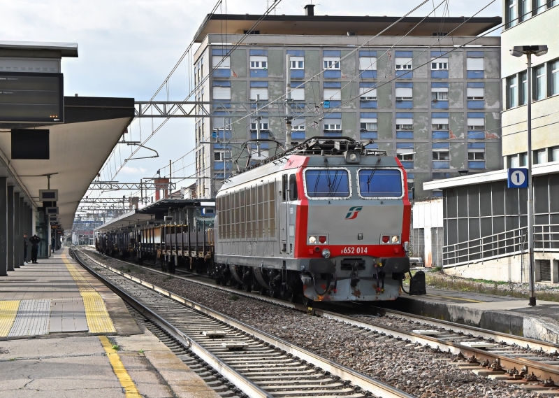
[[[442,248],[442,264],[458,266],[522,255],[527,249],[527,237],[528,229],[522,227],[470,241],[452,243]],[[542,253],[559,252],[559,224],[534,226],[534,250]]]

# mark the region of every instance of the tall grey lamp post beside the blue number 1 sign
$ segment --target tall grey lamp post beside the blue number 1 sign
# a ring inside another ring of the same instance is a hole
[[[534,185],[532,185],[532,55],[539,57],[547,54],[547,45],[515,45],[510,50],[514,57],[526,55],[528,58],[528,256],[530,261],[530,273],[528,283],[530,283],[530,306],[536,305],[536,295],[534,290]]]

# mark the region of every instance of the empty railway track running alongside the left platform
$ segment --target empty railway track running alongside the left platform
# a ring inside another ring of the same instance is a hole
[[[166,336],[189,348],[247,397],[412,397],[210,308],[110,269],[85,253],[74,253],[74,257]]]

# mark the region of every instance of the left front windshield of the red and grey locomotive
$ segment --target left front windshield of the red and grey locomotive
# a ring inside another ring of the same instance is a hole
[[[307,169],[305,185],[310,198],[347,198],[349,173],[346,169]]]

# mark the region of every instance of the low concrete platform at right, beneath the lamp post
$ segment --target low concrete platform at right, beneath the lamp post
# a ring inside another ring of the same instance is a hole
[[[530,307],[528,299],[428,288],[424,296],[402,294],[396,301],[379,306],[559,343],[559,302],[556,301],[537,300],[537,306]]]

